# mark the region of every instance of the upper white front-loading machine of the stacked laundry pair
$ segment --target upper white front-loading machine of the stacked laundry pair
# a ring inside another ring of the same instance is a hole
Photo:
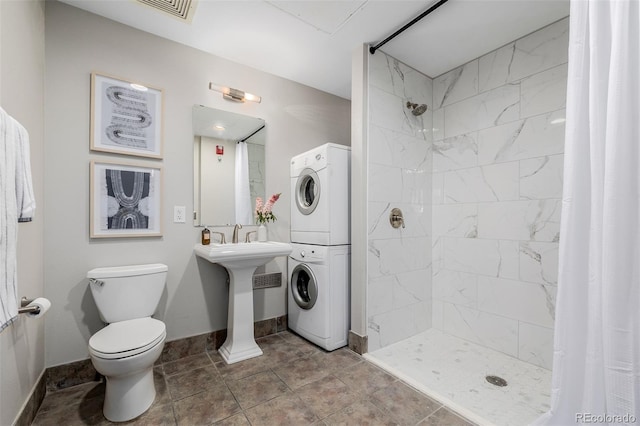
[[[291,242],[349,244],[350,160],[334,143],[291,159]]]

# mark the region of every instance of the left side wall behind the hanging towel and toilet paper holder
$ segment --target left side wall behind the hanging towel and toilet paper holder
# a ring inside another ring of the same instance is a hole
[[[44,294],[44,2],[0,2],[0,105],[29,132],[37,211],[18,226],[18,296]],[[12,424],[44,371],[44,321],[0,332],[0,424]]]

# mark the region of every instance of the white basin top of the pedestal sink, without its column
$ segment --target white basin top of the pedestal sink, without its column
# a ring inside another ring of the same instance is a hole
[[[236,266],[264,265],[277,256],[286,256],[291,253],[291,245],[277,241],[238,243],[238,244],[209,244],[203,246],[197,244],[196,255],[207,259],[211,263],[218,263],[225,268]]]

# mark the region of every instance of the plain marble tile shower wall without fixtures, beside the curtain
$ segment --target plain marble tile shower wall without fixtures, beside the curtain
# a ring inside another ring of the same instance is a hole
[[[433,326],[551,368],[568,19],[433,81]]]

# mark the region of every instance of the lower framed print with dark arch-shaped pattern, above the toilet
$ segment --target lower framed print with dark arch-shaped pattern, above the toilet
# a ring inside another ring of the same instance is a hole
[[[91,162],[91,238],[162,235],[162,167]]]

